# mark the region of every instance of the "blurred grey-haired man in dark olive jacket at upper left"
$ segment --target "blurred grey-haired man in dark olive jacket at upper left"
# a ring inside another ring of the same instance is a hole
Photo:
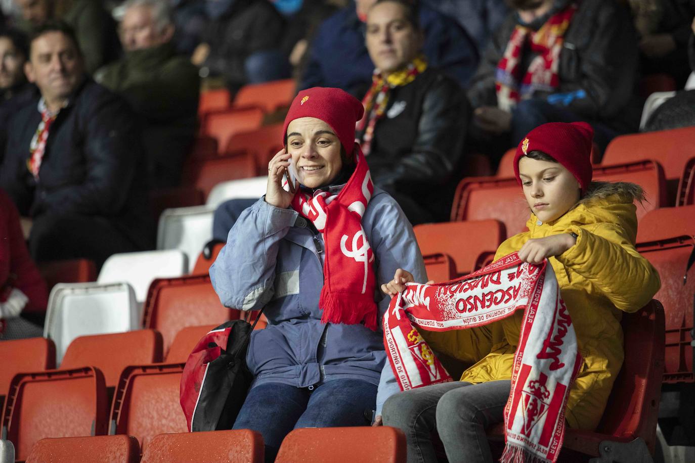
[[[120,31],[125,56],[97,71],[95,80],[123,96],[142,119],[150,186],[174,187],[195,137],[198,70],[176,54],[164,1],[127,1]]]

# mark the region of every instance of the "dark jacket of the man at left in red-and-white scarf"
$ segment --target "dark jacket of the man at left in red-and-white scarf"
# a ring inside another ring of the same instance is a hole
[[[127,103],[85,80],[51,125],[35,180],[29,145],[41,121],[39,96],[10,121],[0,188],[20,214],[102,216],[141,249],[154,242],[140,130]]]

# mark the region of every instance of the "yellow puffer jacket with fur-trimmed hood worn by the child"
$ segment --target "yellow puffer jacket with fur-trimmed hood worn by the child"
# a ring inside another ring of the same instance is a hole
[[[661,285],[657,271],[635,250],[633,201],[641,196],[637,185],[592,183],[584,199],[559,219],[543,224],[531,214],[529,231],[507,239],[495,256],[498,260],[518,251],[528,239],[578,235],[575,246],[550,258],[584,358],[567,402],[571,428],[593,430],[598,425],[623,363],[621,311],[636,312]],[[480,360],[464,371],[461,381],[508,380],[522,320],[518,311],[482,328],[423,335],[436,351],[468,362]]]

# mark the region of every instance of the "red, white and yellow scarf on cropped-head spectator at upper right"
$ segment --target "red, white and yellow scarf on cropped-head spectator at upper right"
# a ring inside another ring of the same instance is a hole
[[[559,87],[559,55],[564,34],[577,8],[575,3],[570,4],[551,16],[538,31],[517,24],[497,65],[495,89],[498,108],[512,110],[516,103],[530,98],[537,90],[553,92]],[[530,51],[538,56],[533,58],[522,76],[519,62],[523,58],[527,40]]]

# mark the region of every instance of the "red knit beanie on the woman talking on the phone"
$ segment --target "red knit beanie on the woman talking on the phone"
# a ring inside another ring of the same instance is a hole
[[[339,88],[312,87],[302,90],[292,101],[285,117],[282,143],[285,143],[287,126],[300,117],[316,117],[331,126],[338,135],[345,153],[352,153],[354,146],[354,127],[362,119],[364,107],[351,94]]]

